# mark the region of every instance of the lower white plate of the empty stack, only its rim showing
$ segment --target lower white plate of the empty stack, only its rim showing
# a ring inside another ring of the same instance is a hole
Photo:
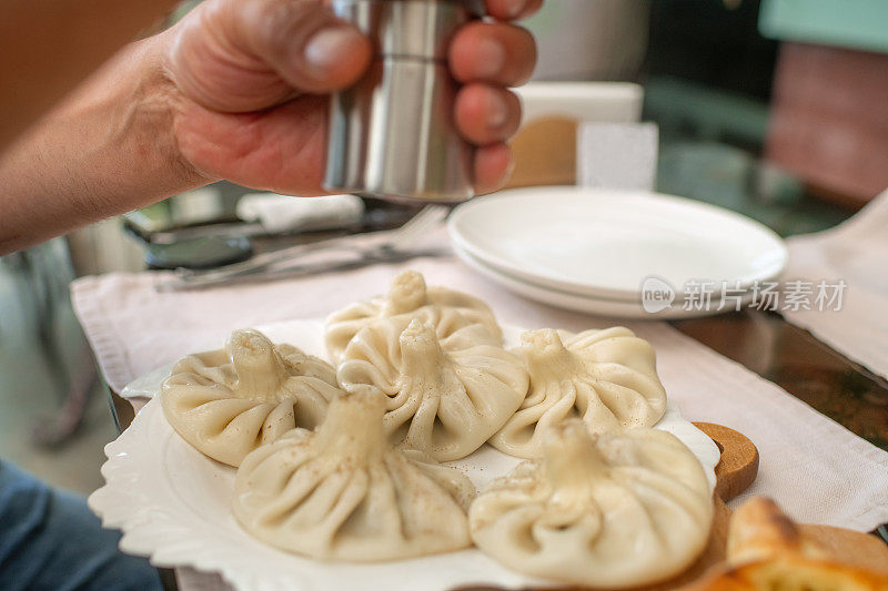
[[[535,285],[533,283],[524,282],[517,277],[512,277],[501,271],[485,265],[471,254],[466,253],[458,246],[454,245],[454,252],[463,259],[468,266],[498,283],[509,292],[513,292],[527,299],[533,299],[541,304],[555,306],[556,308],[569,309],[573,312],[582,312],[584,314],[595,314],[597,316],[608,316],[613,318],[635,318],[645,320],[673,320],[678,318],[700,318],[704,316],[713,316],[733,312],[736,309],[736,304],[730,302],[727,309],[719,310],[722,300],[714,298],[710,302],[708,309],[690,308],[685,309],[680,300],[676,299],[672,307],[667,307],[657,313],[646,312],[640,302],[628,302],[619,299],[607,299],[601,297],[582,296],[562,292],[559,289],[546,288]],[[754,293],[746,294],[740,300],[740,306],[746,306],[755,297]]]

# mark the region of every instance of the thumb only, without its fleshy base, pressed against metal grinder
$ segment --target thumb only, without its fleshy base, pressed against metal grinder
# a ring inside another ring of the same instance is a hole
[[[319,0],[226,0],[232,43],[263,60],[294,89],[326,93],[364,73],[370,41]]]

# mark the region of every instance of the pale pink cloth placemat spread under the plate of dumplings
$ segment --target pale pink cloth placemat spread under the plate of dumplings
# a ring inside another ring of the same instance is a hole
[[[79,279],[72,297],[105,378],[120,391],[188,353],[221,346],[232,329],[324,316],[384,292],[404,268],[484,298],[502,322],[571,330],[617,324],[522,299],[453,258],[191,293],[157,293],[162,274],[114,274]],[[758,446],[758,479],[735,503],[768,495],[799,521],[860,531],[888,521],[888,452],[666,324],[622,324],[653,343],[663,383],[686,418],[735,428]]]

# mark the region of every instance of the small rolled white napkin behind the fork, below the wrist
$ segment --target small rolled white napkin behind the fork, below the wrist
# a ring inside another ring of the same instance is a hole
[[[354,195],[294,198],[275,193],[250,193],[238,201],[238,217],[259,222],[265,232],[335,230],[356,224],[364,202]]]

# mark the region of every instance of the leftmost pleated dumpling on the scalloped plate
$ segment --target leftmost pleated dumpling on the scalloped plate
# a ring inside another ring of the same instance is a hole
[[[236,330],[225,348],[189,355],[163,383],[170,425],[214,460],[239,466],[261,445],[323,420],[340,394],[336,370],[258,330]]]

